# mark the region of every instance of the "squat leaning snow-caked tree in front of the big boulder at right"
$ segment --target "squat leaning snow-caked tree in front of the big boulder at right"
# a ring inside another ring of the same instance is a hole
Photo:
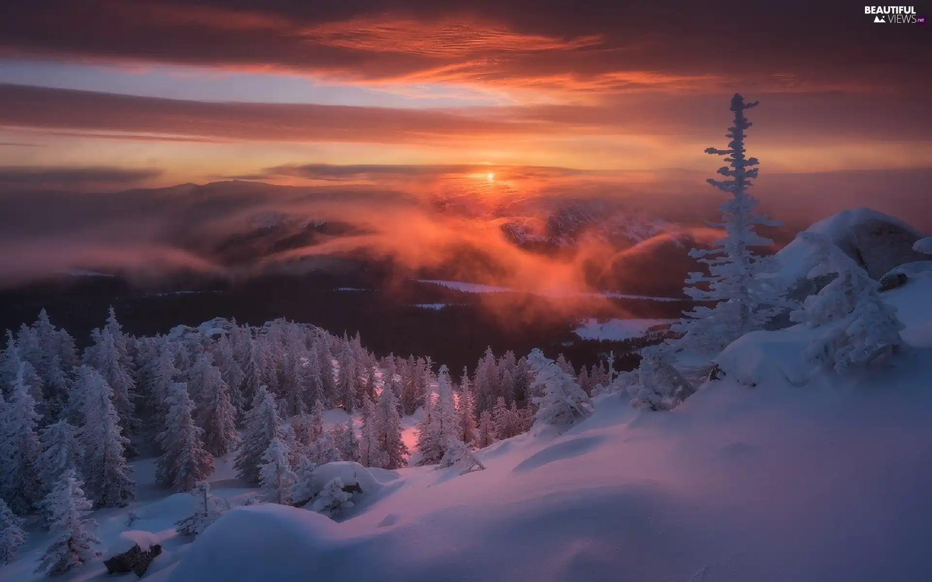
[[[813,363],[839,373],[852,365],[882,359],[903,345],[904,328],[897,308],[884,303],[878,284],[854,259],[824,235],[802,232],[799,237],[815,250],[809,277],[837,273],[816,295],[806,298],[790,318],[823,332],[803,352]]]

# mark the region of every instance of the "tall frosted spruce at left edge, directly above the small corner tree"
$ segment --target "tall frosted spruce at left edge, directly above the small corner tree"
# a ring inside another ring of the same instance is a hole
[[[23,381],[27,362],[10,386],[10,399],[0,409],[0,490],[14,511],[23,514],[33,508],[42,495],[35,461],[42,452],[42,444],[35,433],[41,418],[35,412],[35,400],[29,386]]]

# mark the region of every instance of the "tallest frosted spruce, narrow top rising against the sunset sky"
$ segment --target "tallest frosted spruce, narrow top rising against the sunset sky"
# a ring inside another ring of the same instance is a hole
[[[684,290],[697,302],[715,302],[709,307],[697,305],[677,325],[675,332],[685,335],[678,345],[700,352],[716,352],[729,345],[747,332],[760,330],[771,318],[788,307],[776,279],[760,277],[774,269],[773,259],[756,254],[753,247],[766,247],[773,241],[754,232],[756,226],[777,226],[758,213],[758,200],[747,192],[751,179],[758,177],[755,157],[745,157],[745,130],[751,127],[744,113],[758,103],[745,103],[737,93],[732,98],[734,126],[727,137],[731,142],[728,149],[710,147],[707,154],[729,156],[729,163],[719,169],[724,180],[707,180],[708,183],[730,194],[720,206],[721,223],[710,226],[723,228],[725,237],[712,244],[708,250],[693,249],[690,256],[708,266],[708,275],[691,273],[686,279]]]

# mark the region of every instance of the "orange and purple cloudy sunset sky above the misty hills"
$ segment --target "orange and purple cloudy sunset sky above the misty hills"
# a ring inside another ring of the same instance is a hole
[[[833,1],[5,3],[0,191],[247,180],[656,210],[714,196],[703,151],[740,91],[761,102],[764,207],[929,229],[930,30]]]

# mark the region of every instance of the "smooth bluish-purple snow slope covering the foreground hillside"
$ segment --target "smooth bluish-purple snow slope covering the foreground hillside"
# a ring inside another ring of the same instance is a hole
[[[600,396],[566,434],[476,453],[484,471],[375,469],[380,487],[339,522],[235,508],[189,543],[171,522],[190,496],[145,495],[138,521],[101,511],[97,533],[104,546],[162,540],[145,578],[170,582],[929,580],[932,275],[883,297],[911,344],[885,368],[811,372],[804,330],[755,332],[720,355],[723,379],[671,412]],[[250,494],[228,479],[212,493],[233,505]],[[47,542],[32,535],[0,579],[32,579]],[[64,579],[102,572],[94,562]]]

